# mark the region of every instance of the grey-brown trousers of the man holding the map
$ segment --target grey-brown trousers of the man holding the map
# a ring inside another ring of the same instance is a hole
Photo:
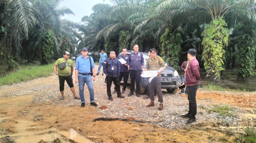
[[[156,93],[158,97],[158,102],[163,103],[163,93],[161,90],[161,77],[155,77],[151,80],[151,82],[148,84],[149,90],[150,90],[150,100],[154,101],[154,91],[156,87]]]

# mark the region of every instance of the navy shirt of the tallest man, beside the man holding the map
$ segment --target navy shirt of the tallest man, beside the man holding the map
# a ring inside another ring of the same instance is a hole
[[[144,59],[143,59],[142,52],[138,51],[137,54],[132,52],[129,55],[127,65],[130,66],[129,70],[141,70],[141,66],[144,65]]]

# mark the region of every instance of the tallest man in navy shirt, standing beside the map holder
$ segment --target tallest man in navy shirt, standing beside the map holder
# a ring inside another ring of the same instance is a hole
[[[144,59],[143,59],[143,54],[142,52],[139,52],[139,45],[134,44],[133,45],[133,50],[129,55],[128,62],[127,62],[127,67],[130,72],[130,77],[131,77],[131,87],[130,87],[130,93],[128,96],[133,95],[134,91],[134,81],[136,82],[136,96],[141,97],[140,93],[140,78],[141,78],[141,71],[143,69],[144,65]]]

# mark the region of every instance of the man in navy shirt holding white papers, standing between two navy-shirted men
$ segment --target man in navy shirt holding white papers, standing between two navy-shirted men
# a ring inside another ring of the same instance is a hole
[[[122,55],[119,55],[117,57],[117,59],[124,59],[124,61],[127,63],[128,61],[128,58],[129,56],[126,54],[127,53],[127,49],[126,48],[123,48],[122,49]],[[128,77],[129,77],[129,70],[128,70],[128,67],[127,67],[127,64],[124,63],[124,64],[120,64],[120,74],[119,74],[119,82],[122,81],[122,77],[124,77],[124,83],[123,83],[123,88],[122,88],[122,91],[121,93],[124,93],[125,89],[126,89],[126,84],[127,84],[127,81],[128,81]],[[114,87],[114,91],[112,93],[116,93],[116,87]]]

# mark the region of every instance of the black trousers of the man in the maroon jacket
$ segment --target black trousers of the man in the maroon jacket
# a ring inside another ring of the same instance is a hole
[[[188,89],[188,101],[189,101],[189,110],[188,114],[191,115],[193,118],[196,118],[196,111],[197,111],[197,105],[196,105],[196,91],[198,89],[199,83],[196,85],[192,85],[189,87],[186,87]]]

